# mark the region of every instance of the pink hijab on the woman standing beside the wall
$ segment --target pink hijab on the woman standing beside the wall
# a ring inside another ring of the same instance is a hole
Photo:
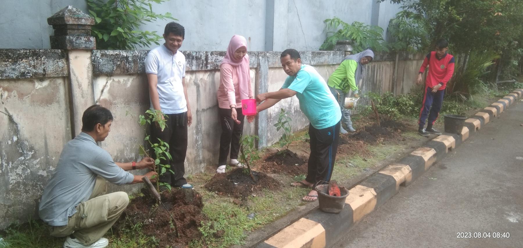
[[[234,58],[234,52],[236,52],[236,50],[242,46],[245,46],[245,49],[247,49],[247,40],[245,40],[245,37],[235,34],[231,38],[231,41],[229,41],[227,52],[225,53],[225,57],[223,57],[222,61],[222,64],[226,63],[236,67],[238,84],[240,85],[251,81],[251,75],[249,72],[249,55],[245,54],[241,60],[236,60],[236,58]]]

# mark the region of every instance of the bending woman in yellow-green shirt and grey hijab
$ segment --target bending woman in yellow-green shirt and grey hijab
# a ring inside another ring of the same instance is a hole
[[[339,104],[339,108],[342,111],[342,123],[345,123],[349,132],[356,132],[356,130],[353,128],[353,122],[350,121],[351,110],[343,108],[345,97],[349,90],[353,91],[354,97],[359,97],[357,84],[363,76],[365,65],[372,62],[373,58],[374,52],[370,49],[349,55],[343,59],[339,67],[334,71],[331,77],[328,78],[327,85]],[[348,133],[343,128],[343,125],[340,133]]]

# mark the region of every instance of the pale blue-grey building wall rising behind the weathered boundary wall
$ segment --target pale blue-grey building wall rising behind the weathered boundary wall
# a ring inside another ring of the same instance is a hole
[[[67,5],[88,13],[85,0],[0,2],[0,48],[49,49],[53,30],[48,17]],[[153,10],[172,13],[185,27],[181,50],[223,51],[234,34],[241,34],[250,51],[317,51],[326,38],[323,20],[337,16],[348,23],[379,25],[385,34],[400,7],[376,0],[171,0]],[[147,23],[142,29],[162,34],[166,23]]]

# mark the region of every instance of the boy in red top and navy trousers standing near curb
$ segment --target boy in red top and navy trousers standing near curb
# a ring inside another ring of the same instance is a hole
[[[433,125],[436,119],[438,119],[439,111],[441,110],[441,103],[443,102],[447,82],[454,73],[454,56],[448,54],[448,50],[448,42],[445,39],[439,39],[436,41],[436,51],[428,53],[423,61],[422,67],[419,68],[418,79],[416,80],[417,85],[421,84],[422,74],[425,72],[427,65],[429,66],[427,81],[425,82],[422,110],[419,112],[418,122],[418,133],[425,137],[430,136],[430,134],[441,135]],[[425,129],[427,115],[428,124]]]

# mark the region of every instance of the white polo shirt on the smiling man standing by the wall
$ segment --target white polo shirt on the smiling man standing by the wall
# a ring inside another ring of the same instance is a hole
[[[158,76],[158,100],[164,114],[178,114],[187,111],[184,86],[185,56],[180,51],[174,55],[165,44],[151,50],[145,58],[145,73]],[[151,102],[151,109],[153,103]]]

